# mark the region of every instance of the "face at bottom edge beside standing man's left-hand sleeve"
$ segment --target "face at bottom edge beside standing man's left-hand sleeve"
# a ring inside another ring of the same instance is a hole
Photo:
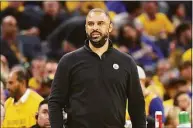
[[[37,122],[41,128],[51,128],[48,115],[48,104],[43,104],[39,108]]]

